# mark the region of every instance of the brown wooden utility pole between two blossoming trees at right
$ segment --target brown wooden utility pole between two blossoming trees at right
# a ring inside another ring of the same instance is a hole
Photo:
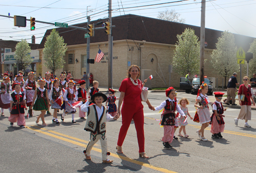
[[[202,0],[201,30],[200,30],[200,85],[204,81],[204,41],[205,41],[205,0]]]

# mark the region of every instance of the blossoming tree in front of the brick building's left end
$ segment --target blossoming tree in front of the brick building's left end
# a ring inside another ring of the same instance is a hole
[[[57,69],[61,69],[64,66],[65,60],[63,56],[68,49],[66,46],[64,39],[59,36],[55,29],[46,38],[45,48],[42,50],[46,61],[44,66],[50,69],[54,75]]]

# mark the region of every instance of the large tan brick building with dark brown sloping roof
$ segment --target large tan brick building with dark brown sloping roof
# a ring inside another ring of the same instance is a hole
[[[91,21],[91,24],[96,24],[97,22]],[[113,17],[112,25],[116,26],[112,29],[113,87],[119,87],[121,81],[127,75],[126,70],[131,64],[136,64],[141,68],[142,79],[151,74],[154,76],[154,80],[146,83],[147,87],[166,87],[166,84],[169,85],[169,81],[172,86],[179,87],[180,76],[173,72],[170,74],[169,80],[168,73],[168,66],[172,64],[175,44],[178,40],[177,34],[182,34],[185,28],[191,28],[195,30],[195,34],[200,38],[200,27],[132,14]],[[74,26],[87,27],[87,23]],[[87,63],[87,39],[84,38],[86,32],[64,28],[57,28],[56,31],[63,37],[68,47],[64,56],[65,66],[63,69],[59,69],[56,74],[59,75],[62,71],[71,71],[74,78],[81,78],[83,72],[86,71]],[[38,47],[40,59],[44,56],[42,49],[44,48],[46,36],[50,32],[51,30],[46,31],[45,37]],[[205,47],[205,59],[207,59],[205,74],[208,77],[218,77],[212,71],[210,54],[216,48],[216,43],[221,33],[222,31],[205,29],[205,41],[207,42],[207,47]],[[234,37],[237,47],[242,47],[245,52],[248,51],[250,43],[254,39],[238,34],[234,34]],[[96,30],[95,36],[90,38],[90,58],[95,58],[99,49],[105,55],[99,63],[90,64],[90,72],[94,75],[94,80],[99,81],[101,86],[107,86],[108,35],[103,30]],[[42,60],[42,63],[44,64],[44,60]],[[46,71],[49,70],[42,66],[42,72]],[[222,81],[222,78],[219,81]],[[221,84],[219,82],[218,85]]]

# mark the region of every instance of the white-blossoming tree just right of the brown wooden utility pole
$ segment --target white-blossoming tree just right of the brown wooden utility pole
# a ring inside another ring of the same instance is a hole
[[[218,38],[216,49],[211,54],[211,64],[214,71],[226,79],[234,72],[239,72],[237,63],[237,46],[234,42],[234,35],[228,31],[221,33]]]

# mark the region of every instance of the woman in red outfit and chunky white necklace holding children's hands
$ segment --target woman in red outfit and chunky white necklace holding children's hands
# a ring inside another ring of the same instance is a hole
[[[148,158],[144,150],[144,113],[140,97],[142,82],[138,79],[139,76],[139,67],[132,65],[128,70],[128,78],[123,79],[119,88],[121,94],[118,101],[117,114],[122,114],[122,126],[120,128],[116,149],[117,153],[123,153],[122,144],[131,121],[134,119],[139,144],[139,156]],[[122,110],[120,111],[122,102]],[[147,100],[146,103],[152,110],[153,106],[150,104],[150,102]]]

